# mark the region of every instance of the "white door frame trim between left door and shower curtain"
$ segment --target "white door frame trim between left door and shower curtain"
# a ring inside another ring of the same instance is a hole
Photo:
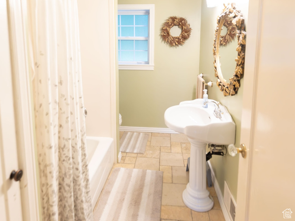
[[[40,220],[34,111],[28,49],[27,1],[8,0],[10,48],[14,91],[23,220]],[[33,64],[32,64],[33,65]]]

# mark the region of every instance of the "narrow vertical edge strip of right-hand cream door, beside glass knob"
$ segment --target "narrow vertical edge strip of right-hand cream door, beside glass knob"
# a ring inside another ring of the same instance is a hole
[[[249,1],[246,37],[245,76],[241,118],[241,142],[247,148],[247,157],[239,159],[237,208],[235,220],[248,220],[255,132],[256,92],[259,64],[261,0]],[[248,46],[248,47],[247,47]]]

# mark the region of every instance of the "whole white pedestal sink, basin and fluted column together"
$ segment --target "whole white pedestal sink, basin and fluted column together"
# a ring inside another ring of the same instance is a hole
[[[197,212],[209,211],[214,204],[206,188],[206,145],[235,143],[235,122],[221,104],[221,118],[214,116],[215,102],[209,99],[208,108],[203,108],[203,99],[183,101],[168,108],[164,114],[165,124],[184,133],[191,143],[189,183],[182,199],[187,207]]]

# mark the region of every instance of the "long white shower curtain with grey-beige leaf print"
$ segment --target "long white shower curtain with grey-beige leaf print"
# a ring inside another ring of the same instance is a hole
[[[93,220],[76,0],[28,0],[42,220]]]

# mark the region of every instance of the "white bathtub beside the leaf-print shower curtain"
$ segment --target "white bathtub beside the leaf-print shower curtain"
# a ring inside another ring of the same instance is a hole
[[[114,164],[114,140],[109,137],[86,137],[90,195],[94,209]]]

